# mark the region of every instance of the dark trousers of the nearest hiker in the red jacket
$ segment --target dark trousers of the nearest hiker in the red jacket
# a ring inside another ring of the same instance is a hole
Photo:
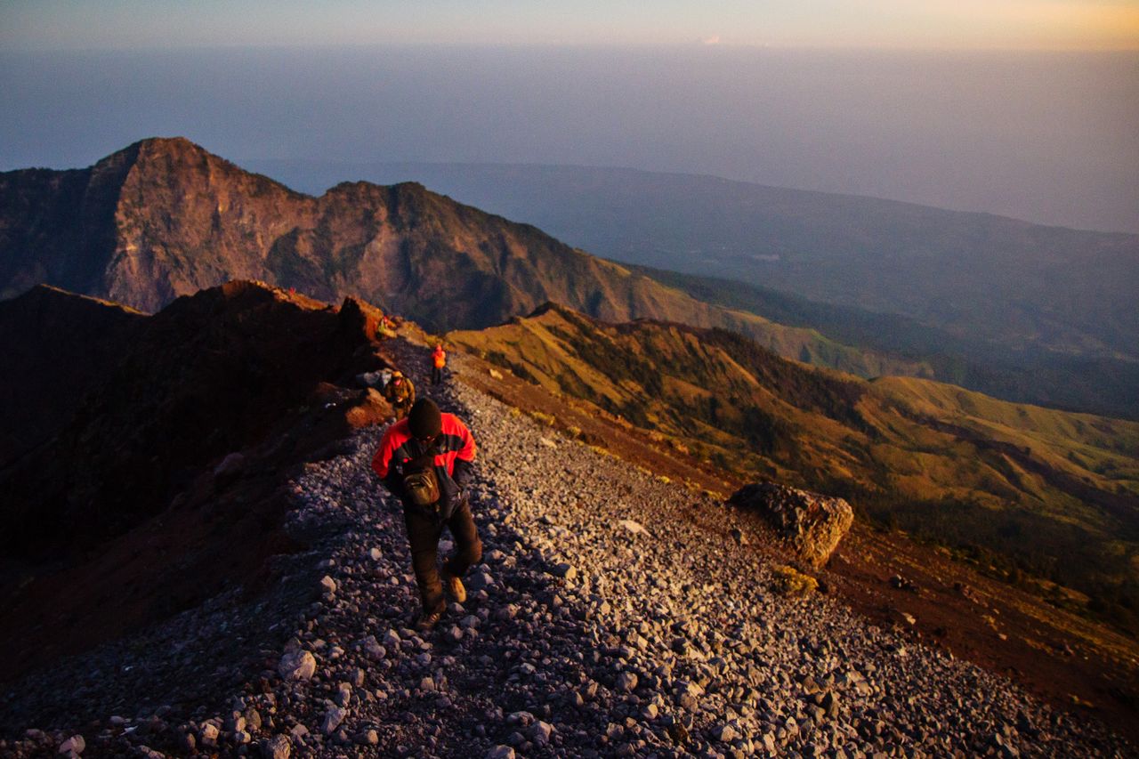
[[[411,544],[411,569],[416,572],[416,583],[419,586],[419,598],[424,611],[432,612],[442,609],[443,582],[439,578],[439,539],[443,534],[443,525],[454,538],[454,553],[446,562],[446,572],[462,577],[483,557],[483,544],[475,530],[475,520],[470,516],[470,504],[464,504],[454,509],[451,519],[436,522],[431,516],[413,508],[403,508],[403,524],[408,528],[408,541]]]

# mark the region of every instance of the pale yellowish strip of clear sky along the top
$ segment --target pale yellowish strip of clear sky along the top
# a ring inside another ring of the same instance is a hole
[[[0,0],[0,50],[336,44],[1139,49],[1139,0]]]

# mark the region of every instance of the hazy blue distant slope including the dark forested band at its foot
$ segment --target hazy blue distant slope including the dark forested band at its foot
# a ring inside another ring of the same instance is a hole
[[[1006,400],[1139,418],[1139,235],[632,169],[253,165],[298,188],[416,178],[697,300]]]

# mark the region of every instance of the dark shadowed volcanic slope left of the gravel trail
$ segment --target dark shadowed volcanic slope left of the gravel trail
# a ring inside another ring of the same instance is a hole
[[[49,317],[25,345],[39,366],[82,359],[92,381],[43,426],[50,440],[0,466],[0,647],[14,652],[0,682],[255,586],[267,557],[295,548],[282,530],[293,470],[390,411],[346,386],[388,364],[369,338],[377,313],[355,301],[230,283],[153,317],[58,291],[5,307],[5,323]],[[115,350],[52,335],[95,323]],[[51,409],[33,373],[2,379],[28,415]],[[235,452],[243,463],[219,471]]]

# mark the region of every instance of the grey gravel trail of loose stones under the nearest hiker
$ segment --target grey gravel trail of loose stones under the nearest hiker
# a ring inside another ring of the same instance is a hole
[[[399,358],[425,375],[425,351]],[[421,391],[480,446],[466,604],[409,629],[402,519],[366,427],[292,482],[310,549],[279,557],[269,590],[6,688],[0,754],[1133,753],[826,596],[776,594],[759,539],[724,539],[722,504],[459,383]],[[722,532],[689,519],[716,512]]]

